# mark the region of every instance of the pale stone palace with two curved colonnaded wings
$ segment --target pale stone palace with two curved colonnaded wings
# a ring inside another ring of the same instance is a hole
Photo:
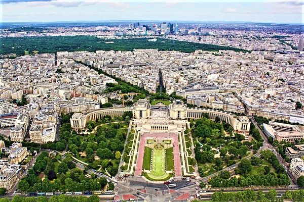
[[[147,99],[140,99],[133,107],[124,108],[103,108],[88,113],[75,113],[70,119],[73,129],[85,129],[88,121],[95,121],[104,116],[122,116],[125,112],[131,111],[135,119],[151,119],[151,106]],[[230,124],[235,133],[248,135],[250,120],[246,116],[236,116],[229,112],[212,109],[186,108],[181,100],[174,100],[168,109],[168,119],[199,119],[208,114],[209,119],[219,119]],[[164,127],[165,128],[165,127]]]

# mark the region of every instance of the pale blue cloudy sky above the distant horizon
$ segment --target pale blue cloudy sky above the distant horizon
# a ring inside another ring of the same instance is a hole
[[[304,23],[292,0],[0,0],[0,22],[242,21]]]

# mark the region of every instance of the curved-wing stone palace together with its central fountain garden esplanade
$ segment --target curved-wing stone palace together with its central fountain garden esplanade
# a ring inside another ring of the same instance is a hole
[[[205,114],[211,120],[219,119],[230,124],[234,132],[248,134],[250,121],[245,116],[202,108],[186,108],[181,100],[173,100],[169,106],[150,105],[147,99],[139,99],[133,107],[104,108],[89,113],[75,113],[71,126],[76,130],[86,127],[88,121],[103,116],[119,116],[131,111],[125,153],[121,161],[121,175],[143,177],[160,183],[173,177],[199,177],[194,165],[193,140],[185,133],[190,129],[188,119],[199,119]]]

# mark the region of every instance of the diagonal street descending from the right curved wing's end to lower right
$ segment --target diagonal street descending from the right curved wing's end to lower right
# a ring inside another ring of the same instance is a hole
[[[291,184],[293,186],[297,186],[296,184],[296,180],[294,179],[294,177],[292,176],[291,172],[289,171],[289,169],[287,169],[287,166],[286,166],[286,162],[285,160],[281,157],[281,155],[277,152],[276,148],[270,144],[268,142],[268,138],[267,136],[264,134],[264,132],[260,129],[260,127],[257,125],[256,121],[254,120],[254,118],[252,116],[248,116],[248,118],[251,120],[251,122],[254,124],[254,126],[257,128],[257,130],[259,131],[261,137],[263,138],[264,140],[264,143],[263,143],[263,146],[265,145],[266,148],[264,149],[270,149],[271,151],[273,151],[273,153],[276,155],[277,159],[279,160],[280,164],[285,168],[285,171],[287,172],[288,174],[288,177],[291,181]]]

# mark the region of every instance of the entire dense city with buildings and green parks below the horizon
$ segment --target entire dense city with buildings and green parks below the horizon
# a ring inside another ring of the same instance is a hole
[[[0,202],[303,201],[303,29],[2,22]]]

